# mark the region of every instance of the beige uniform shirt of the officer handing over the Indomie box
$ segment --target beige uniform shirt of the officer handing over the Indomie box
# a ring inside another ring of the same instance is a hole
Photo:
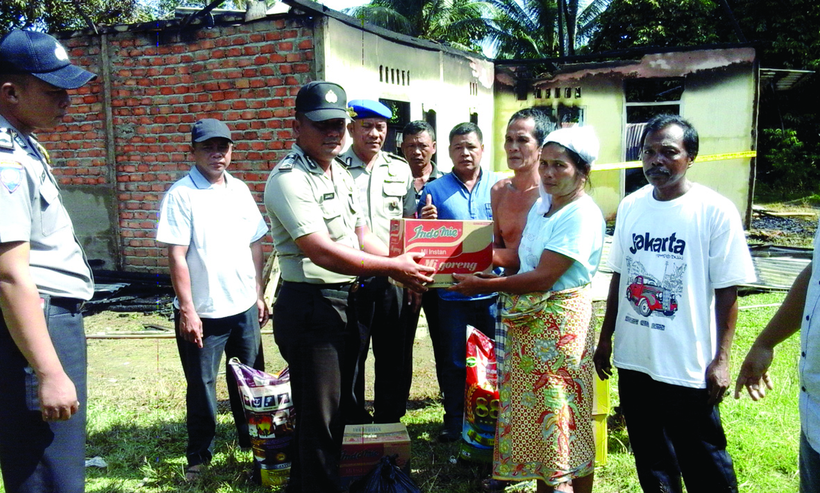
[[[318,284],[356,280],[314,264],[296,244],[299,237],[326,232],[334,242],[360,249],[356,228],[364,226],[365,219],[356,183],[341,161],[334,160],[326,174],[294,144],[267,179],[265,207],[283,280]]]

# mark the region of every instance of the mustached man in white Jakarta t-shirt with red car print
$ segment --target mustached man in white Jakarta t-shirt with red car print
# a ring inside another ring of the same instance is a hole
[[[646,124],[649,185],[618,206],[607,312],[594,363],[618,394],[646,492],[736,492],[718,403],[729,387],[737,285],[754,267],[735,206],[686,171],[698,134],[677,115]],[[613,344],[613,333],[615,340]]]

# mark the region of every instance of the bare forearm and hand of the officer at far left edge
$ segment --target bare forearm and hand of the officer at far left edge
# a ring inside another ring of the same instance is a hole
[[[0,243],[0,309],[11,339],[37,374],[43,420],[62,421],[80,409],[80,402],[48,335],[29,253],[28,242]]]

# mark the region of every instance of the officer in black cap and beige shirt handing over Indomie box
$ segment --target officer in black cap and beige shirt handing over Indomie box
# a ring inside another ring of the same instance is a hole
[[[356,276],[389,276],[419,291],[432,281],[417,254],[383,256],[384,244],[367,230],[358,187],[337,159],[346,106],[339,84],[299,89],[296,143],[265,187],[283,280],[274,337],[289,364],[296,412],[289,493],[341,491],[343,413],[355,405]]]

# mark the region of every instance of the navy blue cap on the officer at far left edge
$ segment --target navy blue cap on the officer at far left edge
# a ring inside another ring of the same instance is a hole
[[[14,29],[0,39],[0,73],[30,74],[63,89],[75,89],[94,79],[88,70],[71,65],[66,48],[48,34]]]

